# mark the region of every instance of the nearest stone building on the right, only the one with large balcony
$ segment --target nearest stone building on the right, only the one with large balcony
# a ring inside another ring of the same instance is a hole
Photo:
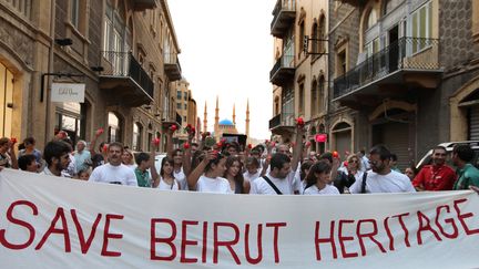
[[[386,144],[405,168],[441,142],[479,138],[475,4],[330,1],[329,66],[337,72],[329,114],[350,118],[343,124],[351,130],[349,148]],[[332,147],[340,147],[334,123],[330,132]]]

